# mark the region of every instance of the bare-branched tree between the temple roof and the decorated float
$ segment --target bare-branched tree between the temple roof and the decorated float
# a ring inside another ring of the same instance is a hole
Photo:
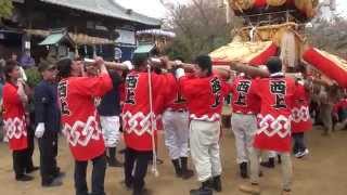
[[[176,32],[171,47],[168,48],[170,57],[182,57],[191,61],[198,54],[206,54],[231,41],[231,29],[240,24],[233,17],[227,24],[226,9],[219,1],[191,0],[188,4],[163,4],[169,16],[166,28]]]

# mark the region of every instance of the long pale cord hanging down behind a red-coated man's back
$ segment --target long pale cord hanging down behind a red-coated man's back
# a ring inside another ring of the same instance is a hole
[[[159,176],[157,164],[156,164],[156,146],[155,146],[155,138],[154,138],[154,113],[153,113],[153,96],[152,96],[152,74],[151,74],[151,65],[147,65],[147,75],[149,75],[149,93],[150,93],[150,120],[151,120],[151,138],[152,138],[152,150],[153,150],[153,165],[152,165],[152,172],[155,177]]]

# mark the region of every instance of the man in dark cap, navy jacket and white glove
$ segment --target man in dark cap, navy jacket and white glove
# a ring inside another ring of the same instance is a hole
[[[55,84],[56,68],[53,64],[41,63],[39,72],[42,80],[35,88],[35,135],[38,138],[40,150],[40,171],[42,186],[59,186],[56,180],[62,173],[56,166],[57,133],[60,126],[60,109]]]

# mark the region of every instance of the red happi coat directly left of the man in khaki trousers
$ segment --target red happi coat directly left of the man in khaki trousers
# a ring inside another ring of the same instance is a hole
[[[255,94],[249,94],[252,79],[237,77],[230,91],[232,93],[232,112],[243,115],[256,115],[259,113],[259,98]]]

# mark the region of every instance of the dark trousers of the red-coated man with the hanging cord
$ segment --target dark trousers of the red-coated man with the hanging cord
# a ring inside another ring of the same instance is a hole
[[[133,187],[134,193],[140,193],[144,186],[144,178],[147,172],[149,160],[152,159],[152,151],[140,152],[129,147],[126,148],[124,166],[125,181],[128,187]]]

